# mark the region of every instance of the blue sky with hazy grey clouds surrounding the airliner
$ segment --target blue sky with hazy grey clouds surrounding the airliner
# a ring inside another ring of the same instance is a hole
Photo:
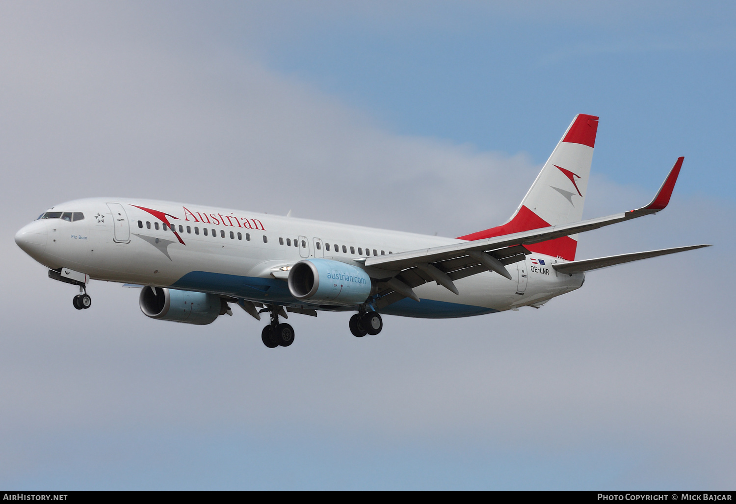
[[[733,489],[732,3],[0,4],[4,489]],[[59,202],[144,197],[458,236],[503,223],[576,113],[601,117],[578,258],[539,310],[90,310],[13,242]]]

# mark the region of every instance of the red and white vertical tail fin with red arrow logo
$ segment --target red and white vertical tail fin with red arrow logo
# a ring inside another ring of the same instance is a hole
[[[459,238],[479,240],[581,220],[597,131],[597,117],[578,114],[512,218],[501,226]],[[540,254],[574,260],[577,245],[577,235],[573,235],[527,248]]]

